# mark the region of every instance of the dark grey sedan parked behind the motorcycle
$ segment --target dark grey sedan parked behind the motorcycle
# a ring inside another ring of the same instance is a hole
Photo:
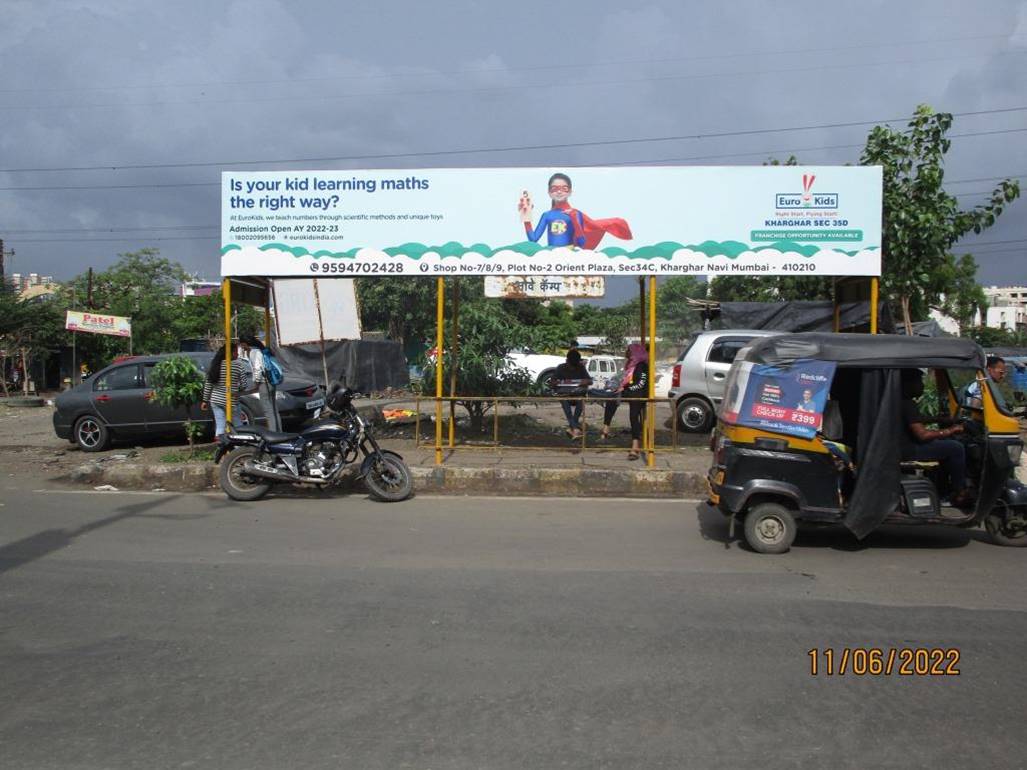
[[[178,353],[195,361],[201,372],[213,353]],[[150,372],[169,355],[138,355],[112,363],[81,385],[66,390],[54,400],[53,430],[61,438],[77,444],[86,452],[107,449],[113,439],[139,439],[160,435],[182,435],[185,412],[162,407],[153,397]],[[277,388],[278,414],[282,428],[299,427],[325,406],[325,390],[316,383],[286,377]],[[236,425],[266,422],[260,400],[243,394],[233,401]],[[214,416],[196,405],[190,418],[204,423],[214,434]]]

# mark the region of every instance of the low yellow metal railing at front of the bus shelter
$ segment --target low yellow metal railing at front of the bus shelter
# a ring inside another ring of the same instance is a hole
[[[546,451],[567,451],[567,452],[582,452],[589,450],[593,452],[623,452],[624,448],[622,446],[596,446],[595,444],[588,442],[588,411],[585,408],[589,403],[605,405],[608,401],[615,400],[618,403],[631,403],[631,402],[642,402],[647,405],[644,415],[642,438],[641,438],[641,452],[646,455],[649,460],[649,464],[652,464],[652,460],[656,453],[667,453],[667,452],[677,452],[678,446],[678,420],[677,413],[675,410],[675,401],[673,398],[603,398],[602,396],[480,396],[480,395],[453,395],[453,396],[417,396],[415,399],[415,411],[417,412],[417,417],[415,418],[414,424],[414,444],[418,449],[433,448],[435,450],[435,463],[442,463],[442,450],[503,450],[503,451],[521,451],[521,450],[546,450]],[[492,416],[492,440],[476,440],[473,444],[460,444],[456,438],[456,407],[460,402],[473,402],[473,401],[485,401],[491,405]],[[532,445],[532,444],[503,444],[501,440],[501,429],[500,429],[500,407],[503,405],[511,406],[517,408],[519,405],[546,405],[546,403],[561,403],[563,401],[570,402],[582,402],[583,408],[581,411],[580,418],[580,430],[581,435],[578,438],[573,439],[573,444],[565,446],[553,446],[553,445]],[[434,435],[430,438],[422,432],[422,419],[423,415],[421,412],[421,405],[427,402],[433,409],[434,412]],[[449,410],[444,409],[444,405],[449,405]],[[663,446],[657,446],[656,441],[656,408],[660,405],[668,405],[670,407],[671,413],[671,440],[670,444],[664,444]],[[446,412],[449,414],[446,415]]]

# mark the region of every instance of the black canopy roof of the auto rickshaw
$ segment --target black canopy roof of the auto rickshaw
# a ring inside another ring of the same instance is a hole
[[[771,365],[801,358],[843,368],[984,369],[981,346],[969,340],[896,335],[794,334],[753,341],[746,360]]]

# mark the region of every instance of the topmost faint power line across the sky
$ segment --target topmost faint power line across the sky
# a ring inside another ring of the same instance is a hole
[[[408,77],[452,77],[462,75],[487,75],[487,74],[515,74],[520,72],[546,72],[550,70],[571,70],[589,69],[593,67],[620,67],[622,65],[646,65],[646,64],[678,64],[682,62],[708,62],[722,61],[727,59],[748,59],[751,56],[801,56],[809,53],[838,53],[844,50],[861,50],[867,48],[888,48],[893,46],[909,47],[911,45],[930,45],[940,43],[966,42],[971,40],[1011,40],[1022,37],[1024,33],[1001,34],[1001,35],[969,35],[966,37],[937,38],[927,40],[897,40],[893,42],[866,43],[858,45],[831,46],[825,48],[805,48],[791,50],[769,50],[769,51],[747,51],[737,53],[718,53],[702,56],[673,56],[665,59],[625,59],[611,62],[574,63],[541,65],[538,67],[486,67],[477,69],[460,70],[440,70],[427,72],[408,73],[380,73],[374,75],[345,75],[337,77],[317,78],[283,78],[276,80],[214,80],[199,83],[146,83],[146,84],[123,84],[106,86],[86,86],[81,88],[0,88],[0,93],[74,93],[85,91],[110,91],[110,90],[148,90],[155,88],[212,88],[217,86],[238,86],[238,85],[295,85],[299,83],[325,83],[352,80],[384,80]]]

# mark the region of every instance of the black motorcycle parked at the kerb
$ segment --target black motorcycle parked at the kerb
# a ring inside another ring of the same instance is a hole
[[[395,452],[378,446],[371,427],[353,407],[356,392],[334,385],[326,399],[327,419],[299,433],[260,426],[232,429],[215,452],[221,489],[233,500],[259,500],[274,484],[331,487],[362,456],[360,470],[371,494],[384,502],[406,500],[414,491],[410,468]],[[224,460],[224,462],[222,462]]]

